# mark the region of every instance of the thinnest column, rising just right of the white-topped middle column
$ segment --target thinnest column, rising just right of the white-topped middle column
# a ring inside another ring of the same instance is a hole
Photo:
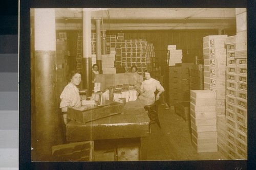
[[[100,35],[100,19],[95,19],[96,21],[96,63],[99,66],[99,72],[102,73],[101,66],[101,35]]]

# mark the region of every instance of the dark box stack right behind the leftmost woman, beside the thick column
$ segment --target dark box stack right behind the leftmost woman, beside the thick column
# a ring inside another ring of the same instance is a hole
[[[57,64],[57,95],[60,96],[62,90],[67,85],[66,76],[68,74],[67,63],[67,41],[56,40],[56,64]],[[60,99],[58,98],[58,102]]]

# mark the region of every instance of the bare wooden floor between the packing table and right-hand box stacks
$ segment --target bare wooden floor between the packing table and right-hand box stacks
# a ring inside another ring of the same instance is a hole
[[[225,159],[219,152],[197,153],[191,144],[190,123],[179,117],[165,105],[158,108],[162,129],[151,125],[147,137],[147,160],[219,160]]]

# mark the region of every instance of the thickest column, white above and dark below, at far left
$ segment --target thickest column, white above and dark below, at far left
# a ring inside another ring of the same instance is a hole
[[[61,144],[57,111],[55,10],[35,9],[35,114],[36,156],[50,161],[51,148]],[[33,136],[34,137],[34,136]]]

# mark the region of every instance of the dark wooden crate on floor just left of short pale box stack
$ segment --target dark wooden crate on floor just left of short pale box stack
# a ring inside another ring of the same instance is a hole
[[[190,102],[176,102],[175,113],[180,115],[184,120],[190,120]]]

